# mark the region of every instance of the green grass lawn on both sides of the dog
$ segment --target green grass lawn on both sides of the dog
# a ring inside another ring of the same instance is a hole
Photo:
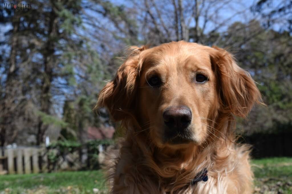
[[[292,158],[253,160],[255,193],[292,193]],[[0,176],[0,194],[106,193],[100,170]]]

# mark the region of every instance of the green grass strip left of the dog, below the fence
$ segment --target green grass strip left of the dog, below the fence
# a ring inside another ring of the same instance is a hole
[[[105,189],[101,170],[0,176],[0,193],[93,193]],[[26,191],[25,191],[26,190]]]

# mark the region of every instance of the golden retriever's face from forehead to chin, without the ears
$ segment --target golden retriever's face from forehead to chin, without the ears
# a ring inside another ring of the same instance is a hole
[[[140,123],[158,145],[200,143],[218,106],[216,77],[208,51],[199,45],[154,47],[138,85]]]

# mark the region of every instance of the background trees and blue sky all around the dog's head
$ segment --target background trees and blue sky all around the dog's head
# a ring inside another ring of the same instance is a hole
[[[107,127],[92,108],[129,45],[185,40],[226,48],[258,83],[240,133],[291,131],[292,2],[32,0],[0,10],[0,146],[45,136],[83,143]]]

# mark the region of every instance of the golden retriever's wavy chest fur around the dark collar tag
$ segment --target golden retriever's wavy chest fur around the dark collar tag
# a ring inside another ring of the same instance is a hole
[[[252,172],[245,146],[217,149],[215,155],[206,147],[197,155],[205,158],[203,162],[194,159],[181,169],[166,166],[160,170],[151,164],[156,161],[145,160],[128,148],[122,147],[114,167],[112,193],[251,193]],[[208,181],[191,184],[202,166],[208,168]]]

